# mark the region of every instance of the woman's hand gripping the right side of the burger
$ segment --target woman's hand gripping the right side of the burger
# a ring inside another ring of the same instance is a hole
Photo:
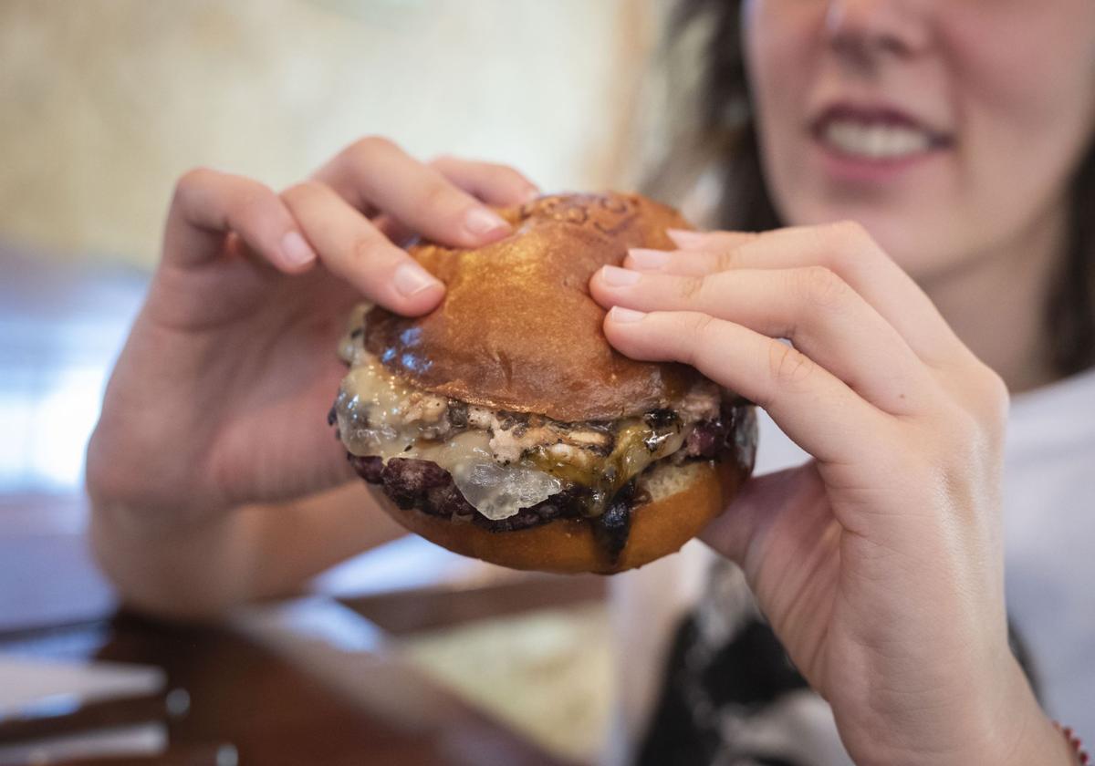
[[[858,225],[673,236],[593,276],[606,335],[694,365],[814,456],[750,480],[704,539],[850,754],[1068,763],[1007,643],[1000,378]]]

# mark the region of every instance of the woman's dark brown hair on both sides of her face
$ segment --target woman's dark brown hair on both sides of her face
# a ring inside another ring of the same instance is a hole
[[[696,92],[689,107],[673,111],[672,148],[656,163],[646,189],[676,199],[701,172],[712,174],[719,193],[707,224],[773,229],[781,223],[764,184],[750,117],[740,0],[680,0],[669,21],[667,50],[698,26],[704,35],[694,51],[700,59]],[[1048,360],[1060,376],[1095,364],[1095,136],[1071,183],[1069,217],[1068,251],[1045,306]]]

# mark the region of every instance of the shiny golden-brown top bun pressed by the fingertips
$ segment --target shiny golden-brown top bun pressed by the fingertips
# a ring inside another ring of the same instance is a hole
[[[514,225],[477,249],[433,243],[411,255],[447,287],[415,318],[373,309],[366,347],[420,388],[491,409],[562,421],[612,420],[667,407],[691,368],[638,362],[611,346],[588,282],[629,247],[671,249],[680,213],[634,194],[557,195],[498,211]]]

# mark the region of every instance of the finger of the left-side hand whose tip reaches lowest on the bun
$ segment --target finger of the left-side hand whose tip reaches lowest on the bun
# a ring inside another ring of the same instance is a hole
[[[408,316],[441,300],[445,286],[330,187],[306,182],[281,197],[324,265],[369,300]]]

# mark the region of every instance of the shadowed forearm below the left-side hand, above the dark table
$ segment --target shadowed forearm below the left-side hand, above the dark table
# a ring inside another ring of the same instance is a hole
[[[358,484],[188,525],[97,501],[91,542],[123,601],[176,619],[287,595],[324,569],[403,534]]]

